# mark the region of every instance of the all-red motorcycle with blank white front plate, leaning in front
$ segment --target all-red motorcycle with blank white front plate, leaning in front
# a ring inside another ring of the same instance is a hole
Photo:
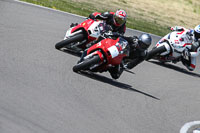
[[[94,44],[87,50],[83,61],[73,67],[74,72],[89,70],[92,72],[104,72],[119,65],[124,57],[129,55],[130,46],[123,37],[115,39],[106,38]]]

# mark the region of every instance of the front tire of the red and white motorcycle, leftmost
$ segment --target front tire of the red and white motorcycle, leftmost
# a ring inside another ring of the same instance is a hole
[[[63,47],[66,47],[67,45],[71,44],[72,42],[80,42],[80,41],[83,41],[83,40],[84,40],[84,34],[79,33],[79,34],[76,34],[76,35],[66,39],[66,40],[62,40],[61,42],[58,42],[55,45],[55,48],[61,49]]]

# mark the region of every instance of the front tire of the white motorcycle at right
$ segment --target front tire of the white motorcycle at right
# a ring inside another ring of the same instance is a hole
[[[148,61],[151,58],[153,58],[155,55],[160,54],[160,53],[165,52],[165,51],[166,51],[165,46],[154,48],[154,49],[152,49],[151,51],[148,52],[147,58],[145,60]]]

